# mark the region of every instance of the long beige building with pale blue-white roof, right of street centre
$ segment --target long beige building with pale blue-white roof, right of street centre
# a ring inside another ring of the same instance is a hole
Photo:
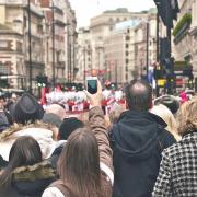
[[[132,19],[115,25],[105,37],[105,78],[126,83],[134,78],[146,77],[157,59],[155,12],[146,19]]]

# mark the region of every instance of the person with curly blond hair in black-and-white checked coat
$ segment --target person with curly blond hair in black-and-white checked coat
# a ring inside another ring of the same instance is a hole
[[[197,195],[197,97],[181,106],[177,118],[183,138],[163,151],[153,197]]]

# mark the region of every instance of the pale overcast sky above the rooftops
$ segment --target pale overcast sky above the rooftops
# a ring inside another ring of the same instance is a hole
[[[148,10],[154,7],[153,0],[70,0],[76,10],[78,27],[89,26],[90,19],[105,10],[127,8],[129,11]]]

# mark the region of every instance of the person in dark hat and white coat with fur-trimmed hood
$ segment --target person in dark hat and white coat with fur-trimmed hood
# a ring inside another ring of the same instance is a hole
[[[40,146],[43,158],[48,159],[56,149],[55,131],[50,125],[40,123],[43,108],[31,94],[23,94],[14,107],[15,124],[0,134],[0,155],[9,161],[9,153],[15,139],[32,136]]]

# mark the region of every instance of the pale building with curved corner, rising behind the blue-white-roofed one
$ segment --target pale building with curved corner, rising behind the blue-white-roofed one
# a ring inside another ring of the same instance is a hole
[[[146,19],[147,13],[134,13],[127,9],[121,8],[117,10],[105,11],[101,15],[91,19],[90,31],[92,35],[92,58],[93,68],[97,69],[103,78],[105,72],[105,58],[104,58],[104,39],[115,28],[115,24],[128,21],[130,19]]]

